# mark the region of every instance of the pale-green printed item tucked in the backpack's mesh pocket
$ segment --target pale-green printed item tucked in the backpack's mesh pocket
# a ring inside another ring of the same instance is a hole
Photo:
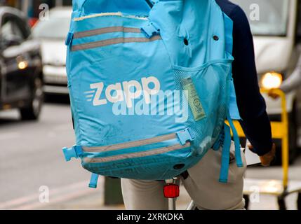
[[[206,118],[206,113],[203,110],[203,106],[201,104],[199,94],[196,92],[196,88],[194,87],[192,78],[182,79],[181,83],[182,83],[182,87],[185,92],[187,101],[189,103],[190,109],[192,110],[194,120],[198,121],[203,118]]]

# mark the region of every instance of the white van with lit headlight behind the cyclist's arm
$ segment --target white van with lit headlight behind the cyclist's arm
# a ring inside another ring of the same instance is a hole
[[[279,87],[297,65],[301,53],[301,1],[298,0],[233,0],[248,16],[254,36],[255,57],[260,87]],[[257,11],[256,11],[257,10]],[[255,15],[257,13],[257,16]],[[281,100],[263,94],[272,121],[280,120]],[[287,94],[289,113],[290,161],[300,147],[301,90]],[[275,140],[280,146],[280,141]],[[280,148],[280,147],[279,147]],[[278,158],[281,158],[278,151]]]

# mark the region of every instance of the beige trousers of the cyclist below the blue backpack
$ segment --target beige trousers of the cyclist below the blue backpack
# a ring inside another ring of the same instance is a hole
[[[234,143],[231,146],[228,183],[220,183],[222,150],[210,150],[181,181],[198,209],[243,209],[243,175],[246,158],[241,151],[243,167],[235,162]],[[167,210],[168,200],[163,196],[163,181],[121,179],[123,201],[128,210]]]

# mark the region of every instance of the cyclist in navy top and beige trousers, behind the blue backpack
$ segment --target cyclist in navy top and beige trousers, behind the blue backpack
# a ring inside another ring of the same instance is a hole
[[[216,0],[220,8],[234,22],[233,76],[240,121],[250,148],[260,156],[262,165],[269,166],[274,158],[271,125],[265,100],[260,94],[255,67],[253,37],[243,10],[227,0]],[[242,153],[243,155],[243,153]],[[236,167],[234,144],[231,147],[228,183],[220,183],[221,151],[210,150],[202,160],[182,174],[181,179],[198,209],[243,209],[244,167]],[[121,179],[123,201],[126,209],[168,209],[163,196],[163,181]]]

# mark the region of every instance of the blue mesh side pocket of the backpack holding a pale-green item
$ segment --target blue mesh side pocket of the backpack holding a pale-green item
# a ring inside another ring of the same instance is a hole
[[[229,77],[227,63],[210,64],[197,71],[175,69],[175,88],[182,104],[188,104],[187,127],[194,133],[194,150],[203,155],[210,149],[227,118]]]

